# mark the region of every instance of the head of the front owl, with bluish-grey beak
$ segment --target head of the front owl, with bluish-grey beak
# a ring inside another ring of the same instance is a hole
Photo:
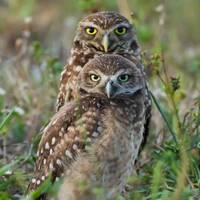
[[[106,99],[130,98],[145,87],[139,62],[119,55],[100,55],[90,60],[78,77],[81,96]]]

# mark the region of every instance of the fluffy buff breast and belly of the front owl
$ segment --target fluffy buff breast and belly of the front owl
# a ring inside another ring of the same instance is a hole
[[[109,199],[124,190],[143,141],[145,113],[141,109],[144,107],[143,98],[138,102],[120,102],[121,107],[118,103],[109,102],[98,113],[97,123],[101,124],[103,131],[93,132],[92,144],[66,170],[59,199],[93,200],[97,198],[92,193],[94,188],[103,189],[103,199]],[[128,114],[130,105],[135,110],[132,116]],[[140,117],[136,119],[138,114]],[[90,188],[82,191],[80,183],[88,184]]]

